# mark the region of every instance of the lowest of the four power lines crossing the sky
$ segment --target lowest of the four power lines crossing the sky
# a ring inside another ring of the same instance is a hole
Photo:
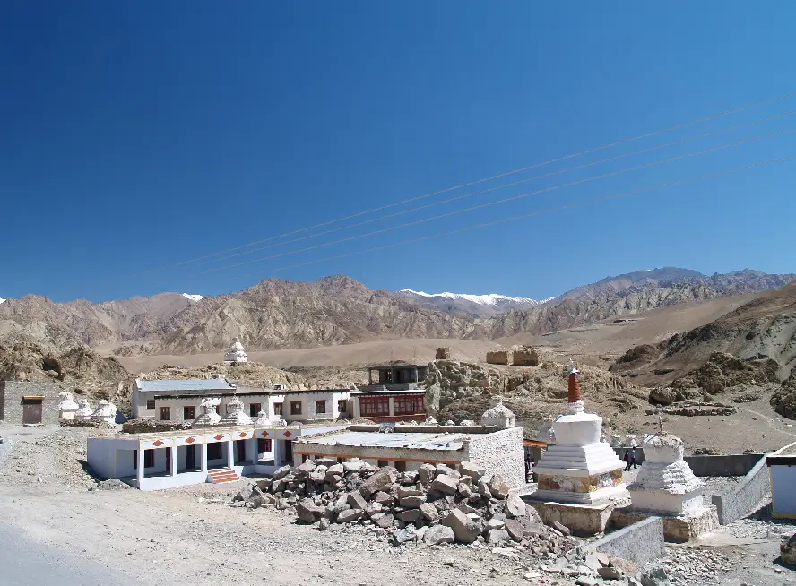
[[[497,224],[504,224],[504,223],[510,222],[510,221],[526,220],[528,218],[539,216],[539,215],[544,214],[544,213],[552,213],[552,212],[555,212],[555,211],[570,210],[572,208],[581,207],[581,206],[588,205],[588,204],[591,204],[591,203],[607,202],[607,201],[610,201],[610,200],[619,199],[621,197],[627,197],[629,195],[643,194],[645,192],[650,192],[650,191],[654,191],[654,190],[657,190],[657,189],[663,189],[665,187],[671,187],[671,186],[674,186],[674,185],[683,185],[683,184],[686,184],[686,183],[691,183],[691,182],[694,182],[694,181],[699,181],[701,179],[707,179],[707,178],[710,178],[710,177],[720,177],[722,175],[729,175],[731,173],[736,173],[736,172],[739,172],[739,171],[745,171],[745,170],[748,170],[750,168],[758,168],[758,167],[764,167],[766,165],[774,165],[775,163],[781,163],[783,161],[792,160],[792,159],[796,159],[796,155],[791,155],[789,157],[783,157],[782,159],[766,160],[766,161],[764,161],[762,163],[753,163],[751,165],[746,165],[744,167],[731,168],[731,169],[727,169],[727,170],[724,170],[724,171],[718,171],[716,173],[708,173],[706,175],[698,175],[696,177],[688,177],[686,179],[680,179],[679,181],[671,181],[670,183],[663,183],[661,185],[653,185],[652,187],[643,187],[641,189],[634,189],[632,191],[622,192],[622,193],[619,193],[619,194],[612,194],[612,195],[606,195],[604,197],[597,197],[597,198],[588,199],[588,200],[581,200],[581,201],[575,202],[575,203],[567,203],[566,205],[560,205],[558,207],[548,208],[546,210],[534,211],[532,213],[526,213],[526,214],[523,214],[521,216],[512,216],[510,218],[504,218],[502,220],[494,220],[494,221],[484,222],[482,224],[476,224],[475,226],[468,226],[466,228],[456,228],[454,230],[448,230],[446,232],[439,232],[437,234],[431,234],[431,235],[428,235],[428,236],[423,236],[423,237],[418,237],[418,238],[411,238],[410,240],[402,240],[401,242],[393,242],[393,243],[390,243],[390,244],[387,244],[387,245],[382,245],[382,246],[374,246],[372,248],[367,248],[367,249],[364,249],[364,250],[357,250],[357,251],[350,252],[350,253],[336,254],[334,256],[327,256],[325,258],[316,259],[314,261],[307,261],[305,263],[289,264],[289,265],[285,265],[285,266],[281,266],[281,267],[277,267],[275,269],[272,269],[272,271],[273,272],[275,272],[275,271],[285,271],[287,269],[294,269],[294,268],[297,268],[297,267],[300,267],[300,266],[306,266],[307,264],[316,264],[316,263],[325,263],[325,262],[328,262],[328,261],[336,261],[338,259],[345,258],[347,256],[354,256],[356,254],[366,254],[366,253],[377,252],[377,251],[380,251],[380,250],[385,250],[385,248],[393,248],[394,246],[403,246],[403,245],[408,245],[408,244],[414,244],[416,242],[422,242],[424,240],[430,240],[431,238],[445,237],[445,236],[450,236],[452,234],[460,234],[462,232],[468,232],[470,230],[474,230],[474,229],[478,229],[478,228],[487,228],[489,226],[495,226]],[[249,276],[253,276],[253,275],[251,273],[249,273]]]

